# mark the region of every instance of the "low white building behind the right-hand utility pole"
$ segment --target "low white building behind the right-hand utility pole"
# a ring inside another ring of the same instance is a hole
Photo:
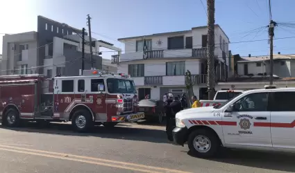
[[[228,78],[227,82],[219,82],[217,90],[261,89],[269,84],[269,56],[240,57],[235,66],[235,77]],[[273,55],[273,84],[295,87],[295,55]]]

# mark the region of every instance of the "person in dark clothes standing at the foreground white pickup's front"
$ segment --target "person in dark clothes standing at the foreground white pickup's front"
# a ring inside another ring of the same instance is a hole
[[[173,141],[172,131],[176,127],[175,116],[176,116],[176,113],[183,110],[183,107],[181,106],[181,102],[179,101],[178,97],[174,98],[173,102],[171,102],[169,107],[171,109],[171,114],[169,118],[167,117],[168,123],[166,128],[166,134],[167,134],[168,140]]]

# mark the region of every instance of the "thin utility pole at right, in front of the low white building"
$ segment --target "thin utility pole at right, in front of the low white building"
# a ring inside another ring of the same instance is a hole
[[[274,36],[274,27],[276,22],[271,20],[269,22],[269,61],[271,69],[269,71],[269,84],[273,84],[273,36]]]

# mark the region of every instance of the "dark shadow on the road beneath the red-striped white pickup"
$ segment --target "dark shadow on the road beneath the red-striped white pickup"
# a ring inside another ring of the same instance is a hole
[[[190,156],[192,154],[188,152]],[[230,163],[247,167],[257,167],[267,170],[295,172],[295,154],[278,152],[258,152],[244,149],[221,149],[217,158],[210,161]]]

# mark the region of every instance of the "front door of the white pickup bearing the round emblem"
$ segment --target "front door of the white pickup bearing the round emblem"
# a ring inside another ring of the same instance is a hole
[[[222,113],[227,145],[271,147],[269,93],[250,93],[237,100],[233,112]],[[264,124],[264,126],[261,126]]]

